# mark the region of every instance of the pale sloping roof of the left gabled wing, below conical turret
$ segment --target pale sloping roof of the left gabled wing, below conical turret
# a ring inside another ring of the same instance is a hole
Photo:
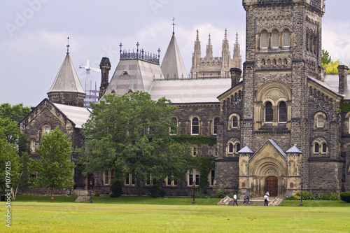
[[[81,128],[90,117],[91,111],[88,108],[69,106],[64,104],[52,103],[59,109],[66,117],[76,125],[76,128]]]

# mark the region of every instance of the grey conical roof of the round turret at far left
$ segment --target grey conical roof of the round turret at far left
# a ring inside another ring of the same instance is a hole
[[[66,54],[48,94],[51,92],[78,92],[85,94],[69,53]]]

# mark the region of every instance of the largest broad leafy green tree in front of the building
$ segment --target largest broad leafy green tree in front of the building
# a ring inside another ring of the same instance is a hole
[[[83,164],[86,174],[99,169],[114,169],[120,179],[136,178],[138,195],[141,183],[166,176],[179,181],[188,169],[190,150],[169,135],[174,127],[170,101],[151,99],[146,92],[133,92],[92,105],[90,120],[84,125]]]

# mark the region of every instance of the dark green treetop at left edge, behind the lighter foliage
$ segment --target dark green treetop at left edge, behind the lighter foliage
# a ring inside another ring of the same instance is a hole
[[[3,103],[0,105],[0,118],[8,118],[11,121],[19,123],[23,120],[29,113],[31,108],[24,107],[23,104],[15,104],[11,106],[8,103]]]

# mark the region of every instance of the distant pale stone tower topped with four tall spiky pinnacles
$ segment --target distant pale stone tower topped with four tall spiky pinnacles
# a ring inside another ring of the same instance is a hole
[[[191,78],[228,78],[231,68],[241,69],[241,55],[239,51],[238,34],[236,34],[236,43],[234,46],[233,59],[230,55],[228,43],[228,33],[225,29],[221,57],[213,57],[213,45],[211,45],[211,35],[207,44],[205,57],[201,57],[200,36],[197,30],[195,40],[195,49],[192,56]]]

